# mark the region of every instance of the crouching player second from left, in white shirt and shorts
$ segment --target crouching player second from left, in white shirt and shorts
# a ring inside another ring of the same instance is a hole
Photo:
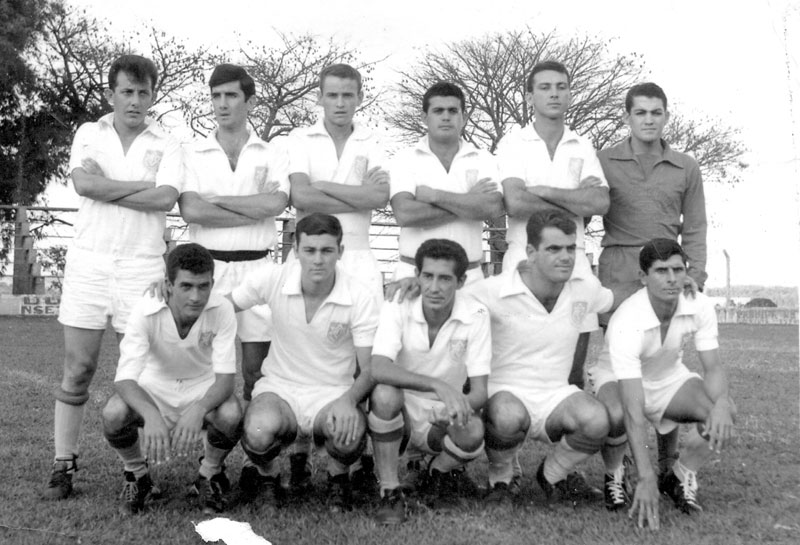
[[[378,311],[363,284],[337,266],[339,220],[310,214],[297,222],[295,242],[297,262],[250,275],[231,293],[237,310],[268,304],[275,328],[245,415],[242,448],[254,467],[242,470],[240,486],[245,501],[262,486],[279,501],[275,458],[298,435],[311,437],[328,451],[328,500],[338,511],[350,507],[348,468],[366,444],[360,403],[373,385]]]

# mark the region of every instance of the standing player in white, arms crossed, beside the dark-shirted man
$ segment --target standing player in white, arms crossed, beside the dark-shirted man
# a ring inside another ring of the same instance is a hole
[[[555,208],[570,213],[575,221],[573,276],[593,281],[584,247],[584,218],[608,210],[608,185],[592,144],[564,122],[572,100],[569,73],[559,62],[540,62],[531,70],[525,90],[533,123],[509,133],[497,149],[508,212],[503,270],[513,271],[525,259],[525,224],[531,214]],[[570,374],[570,383],[580,387],[589,332],[597,329],[597,317],[590,315],[585,323]]]

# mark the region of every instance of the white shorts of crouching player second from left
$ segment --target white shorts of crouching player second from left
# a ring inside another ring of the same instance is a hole
[[[349,386],[308,386],[260,378],[253,387],[253,400],[261,394],[275,394],[289,405],[297,421],[297,433],[313,437],[317,414],[331,401],[342,396]],[[252,407],[252,402],[251,402]]]

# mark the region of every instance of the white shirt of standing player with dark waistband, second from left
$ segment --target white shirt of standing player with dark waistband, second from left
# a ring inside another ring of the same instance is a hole
[[[231,170],[225,151],[214,131],[207,138],[184,147],[184,192],[194,191],[203,198],[228,195],[240,197],[266,191],[277,182],[278,191],[289,196],[286,155],[264,142],[254,131],[239,154],[236,170]],[[189,224],[189,239],[210,250],[267,250],[275,246],[275,218],[236,227],[210,227]]]

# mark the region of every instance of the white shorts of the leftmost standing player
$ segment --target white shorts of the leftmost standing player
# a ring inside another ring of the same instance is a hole
[[[164,258],[124,258],[71,247],[64,270],[58,321],[70,327],[105,329],[108,317],[125,333],[133,306],[153,282],[164,279]]]

